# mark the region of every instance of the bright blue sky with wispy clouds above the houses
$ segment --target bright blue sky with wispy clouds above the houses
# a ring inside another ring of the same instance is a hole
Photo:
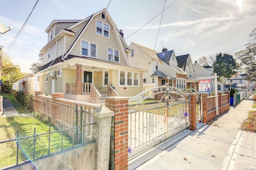
[[[27,73],[47,43],[45,31],[53,20],[82,20],[104,8],[123,30],[128,45],[134,42],[158,52],[165,47],[176,56],[190,54],[193,63],[202,55],[234,56],[245,49],[256,28],[256,0],[39,0],[35,4],[36,0],[0,0],[0,23],[13,27],[0,35],[0,45]]]

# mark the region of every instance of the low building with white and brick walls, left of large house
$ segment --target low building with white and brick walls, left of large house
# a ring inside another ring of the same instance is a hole
[[[22,91],[28,93],[31,91],[31,88],[34,88],[34,84],[30,84],[28,80],[34,78],[35,74],[27,74],[26,76],[20,78],[12,84],[12,90]]]

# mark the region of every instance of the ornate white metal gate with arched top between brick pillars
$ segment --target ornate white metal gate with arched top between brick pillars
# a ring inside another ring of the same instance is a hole
[[[187,129],[189,102],[188,94],[168,84],[129,100],[128,158]]]

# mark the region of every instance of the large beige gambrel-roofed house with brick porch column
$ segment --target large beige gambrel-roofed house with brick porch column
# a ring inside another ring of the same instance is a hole
[[[119,96],[142,92],[145,70],[130,66],[130,48],[106,9],[83,20],[53,20],[46,33],[38,71],[43,94],[63,92],[66,99],[90,102],[92,94],[108,90]]]

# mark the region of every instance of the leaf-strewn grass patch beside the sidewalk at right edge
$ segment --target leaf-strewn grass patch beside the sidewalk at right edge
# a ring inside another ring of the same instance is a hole
[[[242,123],[241,129],[256,132],[256,111],[249,111],[248,118]]]

